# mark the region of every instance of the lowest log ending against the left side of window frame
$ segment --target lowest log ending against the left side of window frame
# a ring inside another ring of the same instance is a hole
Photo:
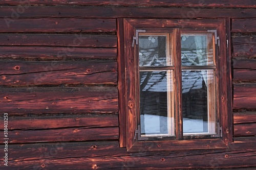
[[[14,130],[8,131],[8,138],[10,143],[113,140],[118,139],[118,131],[118,127]],[[3,131],[0,134],[4,136]]]

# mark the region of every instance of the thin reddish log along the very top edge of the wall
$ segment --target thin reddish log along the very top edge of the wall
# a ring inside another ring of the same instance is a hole
[[[0,5],[94,5],[94,6],[101,6],[101,5],[113,5],[113,6],[180,6],[180,7],[211,7],[211,8],[256,8],[256,5],[253,1],[220,1],[220,0],[213,0],[211,2],[208,1],[197,1],[197,0],[175,0],[175,1],[168,1],[168,0],[142,0],[142,1],[105,1],[105,0],[89,0],[89,1],[82,1],[82,0],[61,0],[61,1],[39,1],[39,0],[29,0],[29,1],[22,1],[22,0],[2,0],[0,1]]]

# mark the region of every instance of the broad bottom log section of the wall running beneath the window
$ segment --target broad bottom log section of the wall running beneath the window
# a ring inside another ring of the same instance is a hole
[[[245,147],[250,146],[250,149]],[[6,169],[190,169],[256,167],[254,138],[235,142],[225,150],[128,153],[117,141],[11,144]],[[207,161],[202,161],[207,157]],[[0,158],[3,160],[3,158]],[[246,164],[245,164],[246,162]]]

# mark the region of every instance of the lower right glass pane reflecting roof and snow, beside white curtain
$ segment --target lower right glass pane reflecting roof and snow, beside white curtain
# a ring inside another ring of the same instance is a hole
[[[214,70],[182,70],[183,133],[215,134]]]

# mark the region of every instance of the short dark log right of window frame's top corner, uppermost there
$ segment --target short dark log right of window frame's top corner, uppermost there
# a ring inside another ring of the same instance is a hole
[[[246,19],[232,19],[232,28],[231,32],[256,32],[256,19],[246,18]]]

